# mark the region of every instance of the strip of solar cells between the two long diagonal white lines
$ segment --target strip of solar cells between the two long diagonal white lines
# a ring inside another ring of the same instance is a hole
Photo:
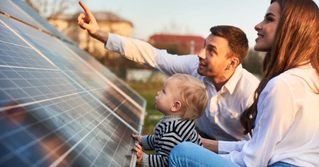
[[[92,68],[89,68],[89,66],[81,62],[74,54],[72,54],[72,52],[63,47],[60,41],[45,33],[38,33],[35,29],[16,21],[6,18],[3,19],[12,29],[16,30],[48,59],[54,61],[59,69],[70,76],[71,79],[79,83],[82,87],[86,88],[86,90],[94,94],[96,98],[99,98],[100,100],[106,99],[106,102],[108,102],[108,99],[113,99],[114,105],[112,109],[116,109],[116,106],[120,105],[125,100],[121,94],[113,91],[114,88],[97,75]],[[109,94],[112,92],[115,94]],[[108,108],[111,108],[112,106],[108,105],[106,102],[104,102],[104,104],[108,106]],[[139,120],[142,118],[142,111],[128,110],[125,108],[125,106],[130,106],[128,103],[130,102],[125,101],[125,105],[121,105],[121,108],[124,110],[117,108],[115,113],[122,116],[122,118],[125,118],[126,122],[130,122],[130,125],[138,131]],[[132,114],[132,112],[135,112],[135,114]]]

